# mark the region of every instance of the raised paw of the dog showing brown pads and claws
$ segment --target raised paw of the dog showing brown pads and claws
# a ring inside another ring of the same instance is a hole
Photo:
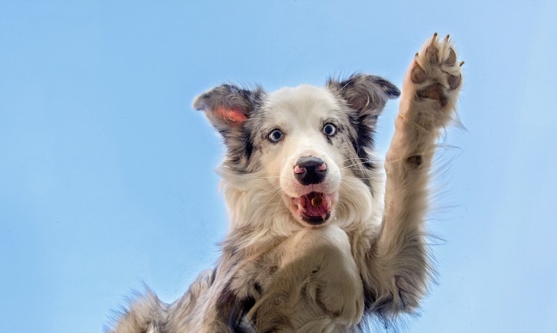
[[[422,119],[414,118],[418,124],[442,127],[450,120],[462,87],[463,64],[449,35],[439,40],[435,33],[425,41],[410,64],[402,89],[403,98],[433,111]]]

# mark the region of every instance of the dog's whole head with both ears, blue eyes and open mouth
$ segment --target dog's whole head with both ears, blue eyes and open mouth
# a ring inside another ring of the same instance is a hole
[[[346,179],[371,187],[377,117],[399,95],[392,83],[357,74],[269,94],[223,85],[198,96],[194,108],[223,136],[226,168],[266,179],[298,222],[316,227],[334,216],[340,190],[351,186]]]

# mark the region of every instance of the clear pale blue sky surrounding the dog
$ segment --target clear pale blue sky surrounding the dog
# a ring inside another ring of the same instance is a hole
[[[223,148],[200,92],[355,71],[401,86],[453,36],[459,112],[409,332],[557,332],[557,1],[0,1],[0,332],[100,332],[217,257]],[[398,101],[380,119],[386,152]]]

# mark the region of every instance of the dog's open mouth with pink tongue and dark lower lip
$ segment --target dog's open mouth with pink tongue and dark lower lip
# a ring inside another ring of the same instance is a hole
[[[292,205],[296,215],[304,222],[310,225],[320,225],[331,216],[333,197],[332,193],[311,192],[301,197],[293,197]]]

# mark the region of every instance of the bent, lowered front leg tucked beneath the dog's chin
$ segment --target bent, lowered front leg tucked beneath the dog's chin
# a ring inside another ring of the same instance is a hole
[[[288,250],[269,277],[272,293],[248,314],[255,332],[348,332],[363,314],[363,290],[347,234],[336,225],[306,228],[281,247]]]

